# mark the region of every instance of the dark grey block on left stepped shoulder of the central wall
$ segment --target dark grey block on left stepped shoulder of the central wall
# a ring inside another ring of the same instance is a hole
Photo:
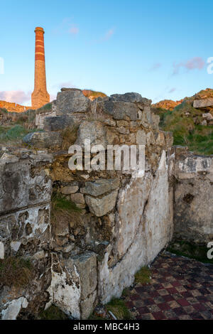
[[[43,129],[45,131],[60,131],[74,124],[74,119],[72,119],[69,115],[45,117]]]

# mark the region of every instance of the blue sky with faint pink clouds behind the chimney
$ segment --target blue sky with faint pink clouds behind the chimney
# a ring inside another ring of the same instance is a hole
[[[1,1],[0,99],[31,104],[35,26],[48,92],[79,87],[180,99],[212,87],[212,0]]]

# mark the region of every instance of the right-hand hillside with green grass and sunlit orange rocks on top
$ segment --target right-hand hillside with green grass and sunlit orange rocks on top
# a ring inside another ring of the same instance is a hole
[[[192,97],[185,97],[173,110],[153,107],[160,116],[160,128],[173,131],[174,145],[188,146],[199,154],[213,154],[213,110],[197,109],[197,99],[213,98],[213,90],[201,90]]]

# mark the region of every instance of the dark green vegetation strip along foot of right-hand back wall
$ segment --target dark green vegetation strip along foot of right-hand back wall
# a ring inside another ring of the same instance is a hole
[[[189,257],[190,259],[196,259],[203,263],[213,264],[213,259],[207,258],[207,252],[209,248],[204,244],[195,244],[184,240],[178,240],[171,242],[168,246],[168,252],[180,255],[182,257]]]

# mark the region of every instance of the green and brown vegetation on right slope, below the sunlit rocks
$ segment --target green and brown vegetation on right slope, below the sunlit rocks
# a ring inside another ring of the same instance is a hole
[[[188,146],[197,154],[213,154],[213,126],[200,124],[203,112],[193,108],[190,99],[172,112],[157,109],[155,113],[160,116],[160,129],[173,132],[174,145]]]

